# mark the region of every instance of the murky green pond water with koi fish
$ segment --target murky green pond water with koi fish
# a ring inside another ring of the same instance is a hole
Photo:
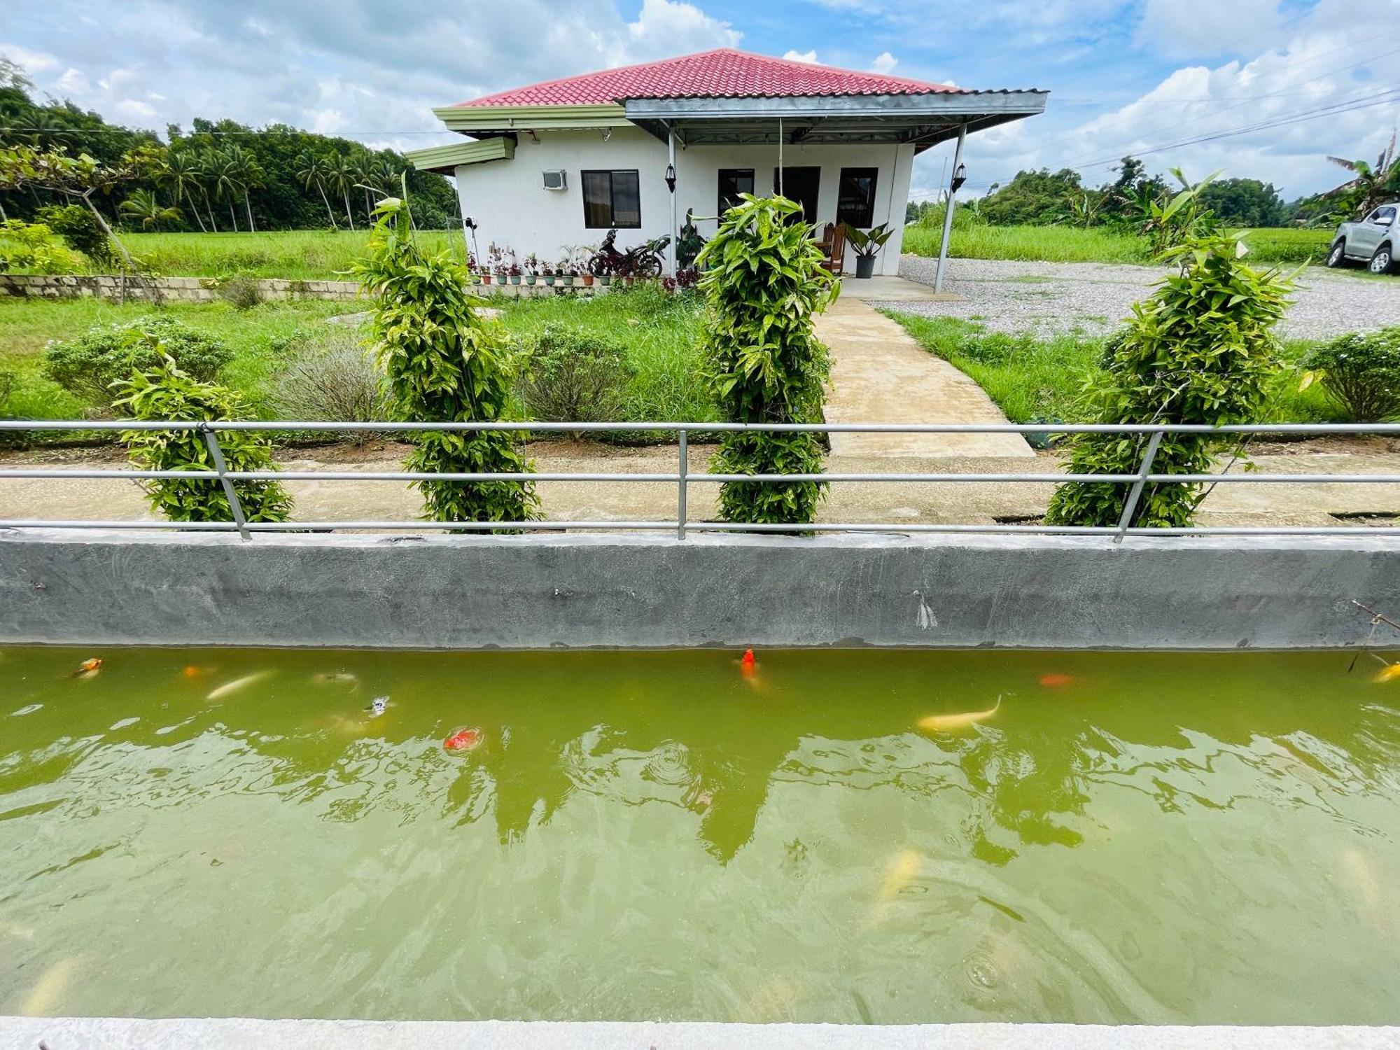
[[[1371,657],[735,655],[3,651],[0,1014],[1400,1022]]]

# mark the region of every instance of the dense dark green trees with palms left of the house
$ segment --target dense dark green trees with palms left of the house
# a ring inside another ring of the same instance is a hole
[[[428,228],[455,225],[456,196],[441,175],[414,171],[402,154],[273,123],[253,129],[196,118],[185,130],[108,123],[69,101],[36,102],[24,73],[0,57],[0,148],[84,154],[102,165],[139,158],[140,174],[94,204],[112,223],[140,230],[251,231],[363,228],[377,193],[396,193],[406,174],[414,216]],[[66,203],[39,186],[0,188],[0,220],[32,221]]]

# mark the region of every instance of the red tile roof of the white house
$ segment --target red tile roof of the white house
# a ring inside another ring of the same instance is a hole
[[[771,98],[780,95],[927,95],[960,91],[881,73],[770,59],[718,48],[641,66],[585,73],[501,91],[459,106],[567,106],[629,98]]]

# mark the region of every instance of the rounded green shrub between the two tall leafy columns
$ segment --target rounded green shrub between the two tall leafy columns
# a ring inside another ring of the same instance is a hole
[[[521,395],[533,419],[598,423],[617,419],[636,374],[617,340],[549,323],[531,342]]]

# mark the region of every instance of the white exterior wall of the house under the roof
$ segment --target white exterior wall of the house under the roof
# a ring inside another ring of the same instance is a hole
[[[899,244],[903,237],[904,203],[914,161],[913,146],[785,146],[785,167],[818,165],[822,178],[816,221],[836,221],[836,193],[841,168],[878,168],[875,186],[875,224],[893,217],[895,235],[881,252],[875,272],[899,270]],[[777,165],[776,146],[676,146],[676,216],[685,221],[686,209],[694,209],[700,232],[711,237],[718,207],[720,168],[753,168],[755,188],[769,189]],[[567,189],[546,190],[540,172],[563,168]],[[584,225],[582,179],[580,172],[594,168],[640,172],[641,228],[617,231],[619,246],[671,232],[671,200],[666,192],[666,144],[637,127],[615,127],[603,141],[602,132],[539,132],[538,141],[521,133],[515,157],[456,168],[458,197],[463,217],[477,224],[480,251],[496,242],[510,246],[524,259],[535,252],[540,259],[557,259],[566,245],[596,245],[606,230]],[[854,255],[847,251],[846,269],[854,270]]]

